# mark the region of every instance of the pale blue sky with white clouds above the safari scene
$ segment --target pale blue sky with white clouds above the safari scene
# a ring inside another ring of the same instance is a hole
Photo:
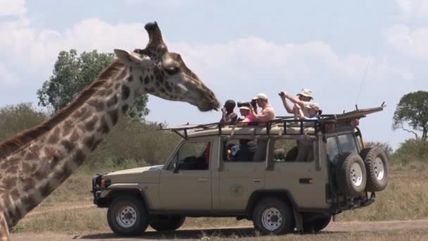
[[[399,99],[427,90],[428,1],[0,0],[0,106],[32,102],[59,51],[144,48],[156,20],[170,51],[215,92],[248,101],[313,90],[324,113],[379,106],[360,121],[367,141],[398,147],[413,137],[391,130]],[[147,120],[212,123],[187,103],[149,97]]]

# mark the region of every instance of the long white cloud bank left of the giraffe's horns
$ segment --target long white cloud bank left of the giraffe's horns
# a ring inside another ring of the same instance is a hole
[[[34,72],[51,66],[61,50],[112,52],[115,48],[144,47],[146,33],[142,24],[110,25],[98,19],[87,19],[70,29],[57,32],[32,27],[31,21],[20,18],[0,23],[0,51],[15,68]]]

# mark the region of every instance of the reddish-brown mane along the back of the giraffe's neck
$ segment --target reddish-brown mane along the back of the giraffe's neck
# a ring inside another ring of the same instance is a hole
[[[92,81],[92,83],[85,87],[82,92],[80,92],[77,97],[70,102],[67,106],[63,107],[63,109],[56,112],[51,118],[46,121],[40,123],[39,125],[34,126],[31,129],[24,130],[23,132],[18,133],[13,137],[9,137],[7,140],[0,142],[0,161],[4,159],[6,156],[12,154],[17,151],[21,147],[25,146],[28,142],[36,139],[37,137],[44,135],[44,133],[49,132],[53,127],[61,123],[65,118],[70,116],[73,111],[82,106],[92,95],[103,86],[106,81],[111,78],[111,76],[118,73],[122,67],[125,65],[116,59],[111,63],[110,66],[103,68],[101,73],[97,78]]]

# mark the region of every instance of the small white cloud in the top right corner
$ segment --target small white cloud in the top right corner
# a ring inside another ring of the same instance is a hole
[[[428,1],[426,0],[396,0],[401,18],[428,18]]]

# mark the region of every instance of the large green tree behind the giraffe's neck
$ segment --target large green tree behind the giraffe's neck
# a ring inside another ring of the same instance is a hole
[[[113,53],[99,53],[96,50],[83,52],[80,56],[75,49],[61,51],[53,66],[53,75],[37,90],[39,106],[49,107],[53,111],[63,108],[73,101],[113,58]],[[139,97],[128,115],[134,120],[144,120],[144,116],[149,113],[147,100],[146,94]]]

